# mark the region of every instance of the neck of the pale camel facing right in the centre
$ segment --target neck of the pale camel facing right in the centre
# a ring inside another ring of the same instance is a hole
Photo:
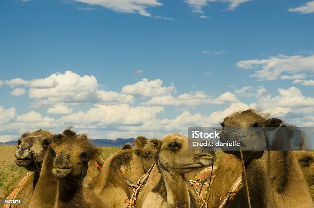
[[[157,164],[165,183],[168,207],[190,207],[190,196],[184,176],[163,169],[159,160]]]

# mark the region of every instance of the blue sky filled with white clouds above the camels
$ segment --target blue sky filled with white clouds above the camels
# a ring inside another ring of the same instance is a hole
[[[314,1],[0,2],[0,142],[161,137],[259,108],[314,125]]]

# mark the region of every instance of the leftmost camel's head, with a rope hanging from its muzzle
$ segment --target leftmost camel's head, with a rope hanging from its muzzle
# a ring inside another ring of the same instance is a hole
[[[16,164],[29,171],[36,171],[37,167],[34,162],[36,160],[41,168],[48,145],[54,139],[55,135],[42,129],[22,134],[16,146],[18,148],[15,152]]]

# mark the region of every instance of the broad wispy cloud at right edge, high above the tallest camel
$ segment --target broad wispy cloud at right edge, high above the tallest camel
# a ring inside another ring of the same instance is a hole
[[[314,72],[314,55],[304,56],[284,56],[261,60],[245,60],[237,62],[237,67],[243,69],[260,68],[250,77],[257,77],[259,80],[276,80],[282,73],[298,74],[300,72]],[[283,77],[287,78],[287,77]]]

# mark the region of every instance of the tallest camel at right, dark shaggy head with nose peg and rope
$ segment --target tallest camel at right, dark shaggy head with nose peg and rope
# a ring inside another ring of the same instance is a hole
[[[313,208],[306,180],[297,163],[295,154],[291,150],[265,151],[269,146],[266,141],[267,130],[278,128],[282,121],[269,118],[255,109],[239,111],[226,117],[221,123],[224,130],[221,132],[222,142],[241,141],[246,174],[242,174],[244,186],[237,192],[230,207],[249,207],[248,200],[244,200],[246,186],[250,194],[250,204],[257,208]],[[243,127],[260,127],[254,130]],[[277,134],[280,135],[282,128]],[[288,131],[293,133],[291,127]],[[287,133],[283,130],[283,133]],[[279,133],[278,133],[279,132]],[[239,133],[246,137],[239,138]],[[289,133],[289,132],[288,132]],[[289,146],[290,140],[281,140],[280,144]],[[264,147],[264,149],[261,149]],[[234,147],[233,147],[234,148]],[[235,155],[241,160],[241,151],[234,151],[230,147],[222,147],[226,153]],[[289,167],[289,168],[288,168]],[[245,177],[246,175],[246,177]],[[247,183],[245,182],[247,178]]]

